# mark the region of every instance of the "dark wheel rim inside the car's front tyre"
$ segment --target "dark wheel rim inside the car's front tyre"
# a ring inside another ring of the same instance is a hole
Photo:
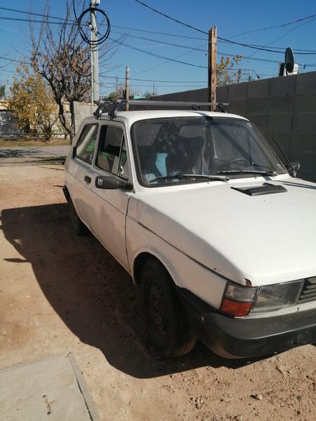
[[[164,291],[154,276],[150,276],[147,294],[147,317],[152,332],[159,342],[165,342],[168,337],[167,302]]]

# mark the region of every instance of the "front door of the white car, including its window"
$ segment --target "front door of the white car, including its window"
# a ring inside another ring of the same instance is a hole
[[[93,180],[89,188],[93,192],[93,234],[103,243],[121,265],[129,268],[125,245],[125,222],[129,197],[133,192],[121,189],[96,187],[98,175],[131,180],[129,152],[126,147],[124,126],[105,123],[100,128],[98,149],[93,162]]]

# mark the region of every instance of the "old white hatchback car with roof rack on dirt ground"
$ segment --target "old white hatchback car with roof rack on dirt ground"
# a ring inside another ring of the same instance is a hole
[[[233,114],[110,107],[81,124],[70,220],[140,286],[159,354],[197,338],[228,358],[316,342],[316,184],[289,168]]]

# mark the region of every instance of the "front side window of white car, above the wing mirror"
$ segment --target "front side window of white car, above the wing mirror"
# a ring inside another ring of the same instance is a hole
[[[119,166],[124,168],[127,156],[124,161],[120,160],[121,143],[124,132],[117,126],[102,126],[100,133],[99,149],[96,159],[96,165],[109,173],[117,174]],[[122,151],[123,152],[123,151]],[[126,150],[125,150],[126,155]],[[124,171],[124,169],[123,169]],[[121,173],[121,169],[119,171]]]

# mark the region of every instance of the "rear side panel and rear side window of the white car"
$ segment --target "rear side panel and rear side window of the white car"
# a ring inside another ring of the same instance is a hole
[[[93,217],[93,192],[90,185],[93,179],[92,161],[98,137],[98,123],[87,123],[81,130],[72,157],[72,178],[70,196],[79,218],[91,228]]]

